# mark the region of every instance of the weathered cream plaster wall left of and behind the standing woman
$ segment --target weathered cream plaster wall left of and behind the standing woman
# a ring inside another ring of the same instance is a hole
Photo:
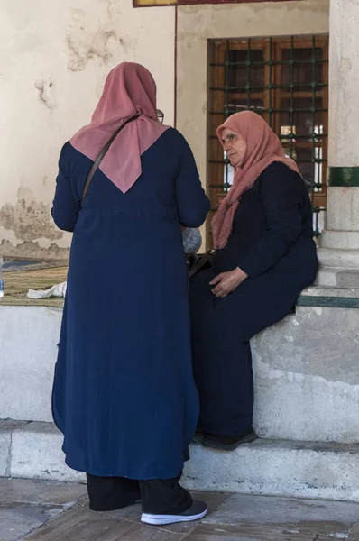
[[[60,148],[88,122],[107,72],[143,63],[173,123],[174,8],[3,0],[0,32],[0,252],[60,257],[70,239],[50,216]]]

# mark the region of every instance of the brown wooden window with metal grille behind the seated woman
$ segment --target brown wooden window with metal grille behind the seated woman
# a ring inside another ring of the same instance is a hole
[[[253,110],[297,161],[314,210],[324,225],[327,195],[328,38],[211,41],[209,50],[208,187],[212,211],[232,185],[233,168],[216,139],[229,115]]]

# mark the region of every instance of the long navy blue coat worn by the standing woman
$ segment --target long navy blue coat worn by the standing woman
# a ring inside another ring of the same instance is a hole
[[[123,194],[68,142],[52,215],[73,231],[52,412],[69,467],[99,476],[178,475],[198,420],[188,273],[179,223],[209,208],[174,129],[142,156]]]

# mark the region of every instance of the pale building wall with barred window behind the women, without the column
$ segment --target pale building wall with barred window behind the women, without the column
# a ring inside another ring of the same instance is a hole
[[[251,108],[299,160],[322,229],[329,0],[64,0],[51,7],[4,0],[0,10],[3,255],[67,255],[70,235],[50,216],[60,148],[88,122],[107,72],[124,60],[151,69],[165,122],[187,137],[213,210],[232,172],[216,125]]]

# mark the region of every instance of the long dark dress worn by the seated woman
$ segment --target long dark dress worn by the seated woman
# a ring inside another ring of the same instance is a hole
[[[249,278],[225,298],[209,282],[240,267]],[[239,436],[252,429],[250,339],[290,313],[316,278],[308,190],[281,162],[268,166],[242,197],[233,231],[213,268],[191,280],[192,355],[200,398],[198,430]]]

